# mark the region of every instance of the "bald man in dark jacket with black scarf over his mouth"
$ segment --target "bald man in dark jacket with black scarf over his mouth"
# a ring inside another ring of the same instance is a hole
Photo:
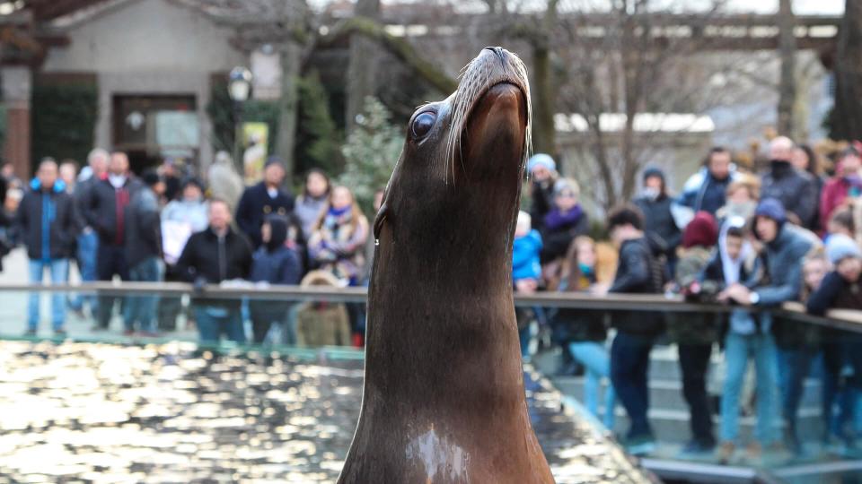
[[[770,142],[770,169],[761,177],[761,196],[775,198],[787,211],[787,219],[805,229],[816,229],[817,182],[807,171],[794,168],[794,144],[778,136]]]

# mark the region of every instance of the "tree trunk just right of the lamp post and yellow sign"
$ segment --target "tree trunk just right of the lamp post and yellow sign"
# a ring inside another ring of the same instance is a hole
[[[303,65],[303,48],[293,41],[281,47],[281,99],[278,101],[278,134],[276,154],[285,162],[286,183],[294,174],[294,148],[296,144],[296,118],[299,108],[299,78]]]

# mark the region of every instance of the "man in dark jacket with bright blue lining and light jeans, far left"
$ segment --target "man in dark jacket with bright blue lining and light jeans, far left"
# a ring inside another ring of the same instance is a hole
[[[69,257],[75,246],[75,207],[66,194],[65,184],[57,179],[57,162],[42,160],[31,190],[18,206],[16,223],[27,255],[30,257],[30,280],[41,283],[46,269],[51,283],[68,280]],[[39,328],[39,292],[30,295],[27,335],[35,336]],[[51,322],[54,333],[65,334],[66,295],[55,292],[51,297]]]

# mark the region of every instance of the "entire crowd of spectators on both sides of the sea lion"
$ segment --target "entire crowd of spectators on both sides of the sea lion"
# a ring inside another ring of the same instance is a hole
[[[814,151],[777,137],[770,142],[768,166],[755,174],[737,168],[730,151],[714,148],[678,195],[671,194],[660,169],[646,169],[638,196],[608,213],[602,240],[590,236],[596,224],[580,202],[576,181],[560,177],[549,155],[532,156],[529,212],[519,213],[515,229],[516,293],[674,291],[733,308],[663,314],[519,307],[523,356],[530,358],[535,328],[545,328],[563,350],[559,371],[584,372],[585,406],[596,415],[602,413],[602,381],[609,380],[604,424],[613,427],[619,402],[630,422],[623,440],[637,454],[655,446],[648,419],[650,352],[657,343],[673,342],[690,410],[685,451],[715,452],[722,462],[741,445],[749,361],[757,382],[757,426],[745,453],[755,458],[764,446],[778,444],[801,452],[796,418],[803,382],[813,361],[822,361],[823,440],[853,448],[862,387],[862,347],[856,345],[862,336],[802,324],[776,308],[799,301],[815,315],[836,307],[862,309],[860,149],[860,143],[849,144],[826,173]],[[287,344],[363,344],[361,305],[211,298],[204,291],[233,281],[264,287],[366,284],[374,241],[347,186],[332,186],[313,169],[294,196],[277,158],[248,187],[224,157],[210,168],[207,183],[186,171],[166,160],[136,177],[126,153],[101,149],[80,170],[72,160],[41,160],[26,186],[4,167],[0,253],[26,246],[31,281],[41,282],[48,272],[50,281],[66,282],[74,261],[82,281],[185,281],[195,288],[188,308],[172,296],[67,298],[55,292],[55,333],[65,334],[67,310],[87,310],[94,331],[109,330],[119,314],[124,333],[154,336],[175,331],[186,314],[204,342],[277,337]],[[377,193],[375,209],[382,195]],[[39,327],[39,298],[31,294],[31,335]],[[726,361],[717,429],[707,388],[716,348]]]

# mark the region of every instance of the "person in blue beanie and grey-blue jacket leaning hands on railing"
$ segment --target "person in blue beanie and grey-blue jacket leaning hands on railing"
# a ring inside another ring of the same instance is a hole
[[[813,248],[812,238],[803,229],[787,223],[784,206],[774,198],[765,198],[754,211],[754,236],[763,244],[768,280],[748,284],[734,283],[718,298],[734,301],[744,307],[780,307],[788,301],[798,301],[802,293],[802,264]],[[761,311],[761,325],[771,324],[778,344],[778,365],[781,373],[782,414],[786,423],[785,444],[792,452],[802,451],[796,434],[796,413],[802,397],[802,383],[811,366],[816,348],[808,325],[776,319],[769,310]]]

